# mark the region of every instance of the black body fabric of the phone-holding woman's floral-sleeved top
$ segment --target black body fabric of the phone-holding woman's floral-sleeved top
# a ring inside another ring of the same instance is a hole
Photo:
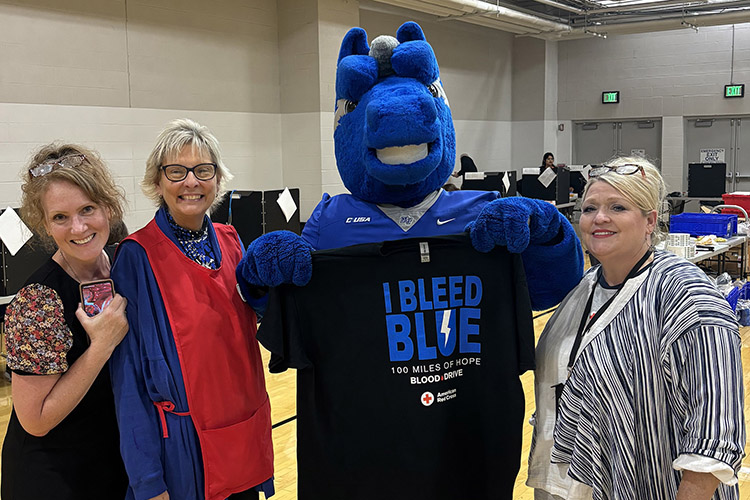
[[[78,283],[50,259],[29,278],[27,286],[32,284],[35,289],[42,285],[57,292],[65,323],[72,332],[72,346],[66,356],[70,367],[89,345],[75,316],[80,302]],[[13,315],[23,312],[9,306],[6,325],[17,319]],[[42,314],[52,312],[45,310]],[[24,373],[19,369],[14,372]],[[27,433],[13,410],[3,445],[1,479],[3,500],[125,498],[127,476],[120,458],[107,365],[78,406],[45,436]]]

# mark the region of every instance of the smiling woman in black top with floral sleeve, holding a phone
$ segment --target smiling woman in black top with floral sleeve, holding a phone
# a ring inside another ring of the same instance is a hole
[[[54,246],[5,315],[13,410],[3,444],[3,500],[125,497],[127,476],[107,361],[128,331],[115,294],[94,317],[79,284],[109,278],[105,245],[121,191],[99,155],[48,144],[24,167],[21,216]]]

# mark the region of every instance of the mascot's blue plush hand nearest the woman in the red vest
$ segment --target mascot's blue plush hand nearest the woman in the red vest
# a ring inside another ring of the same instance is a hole
[[[247,247],[237,276],[255,286],[306,285],[312,277],[312,246],[291,231],[264,234]]]

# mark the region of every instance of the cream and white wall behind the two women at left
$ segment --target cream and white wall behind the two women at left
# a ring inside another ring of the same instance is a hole
[[[145,158],[179,117],[218,137],[230,188],[281,187],[277,39],[275,0],[0,0],[0,204],[18,205],[34,149],[79,142],[110,165],[138,229],[154,211]]]

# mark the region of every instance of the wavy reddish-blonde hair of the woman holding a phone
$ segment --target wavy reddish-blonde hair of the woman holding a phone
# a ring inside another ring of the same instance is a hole
[[[29,170],[37,165],[58,160],[70,155],[84,155],[86,158],[77,167],[61,167],[40,177],[34,177]],[[91,201],[109,211],[110,228],[122,222],[125,195],[112,179],[112,174],[99,154],[77,144],[51,143],[42,146],[21,171],[21,218],[39,236],[41,242],[54,248],[54,240],[46,231],[46,215],[43,198],[49,186],[56,182],[69,182],[81,189]]]

